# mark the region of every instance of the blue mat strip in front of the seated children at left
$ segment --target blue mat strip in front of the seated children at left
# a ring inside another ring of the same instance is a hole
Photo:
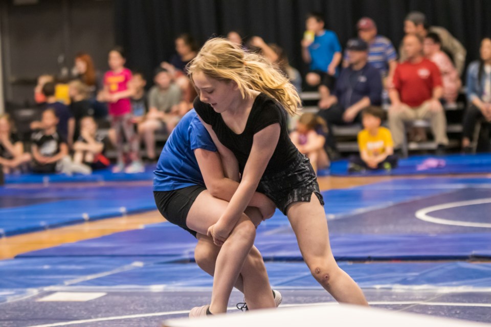
[[[6,175],[6,184],[25,183],[66,183],[66,182],[101,182],[101,181],[135,181],[152,180],[155,165],[146,165],[145,172],[136,174],[113,173],[110,168],[94,171],[91,175],[75,174],[20,174]]]

